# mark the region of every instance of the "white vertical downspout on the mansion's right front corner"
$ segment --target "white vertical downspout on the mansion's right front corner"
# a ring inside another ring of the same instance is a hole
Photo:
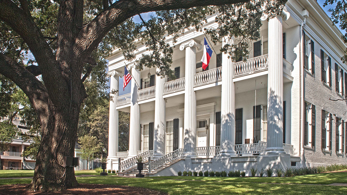
[[[303,37],[303,27],[304,27],[304,24],[306,24],[306,16],[308,16],[308,12],[306,10],[303,11],[303,15],[304,15],[304,21],[301,23],[300,25],[300,47],[299,47],[299,59],[300,59],[300,93],[301,93],[301,98],[300,98],[300,120],[301,120],[301,125],[300,125],[300,132],[299,132],[299,149],[300,149],[300,152],[299,152],[299,156],[300,156],[300,162],[301,162],[301,165],[303,167],[306,167],[306,163],[305,163],[305,156],[304,156],[304,147],[302,145],[303,141],[303,130],[304,130],[304,101],[305,101],[305,98],[304,98],[304,60],[303,60],[303,51],[302,51],[302,47],[303,47],[303,44],[304,44],[304,37]]]

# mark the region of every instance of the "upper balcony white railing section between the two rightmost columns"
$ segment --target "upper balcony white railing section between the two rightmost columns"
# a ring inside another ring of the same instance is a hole
[[[268,68],[268,54],[234,63],[234,77],[255,73]]]

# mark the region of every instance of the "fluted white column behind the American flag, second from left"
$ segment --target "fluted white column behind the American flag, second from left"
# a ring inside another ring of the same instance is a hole
[[[140,143],[140,106],[138,105],[138,86],[140,82],[140,71],[131,65],[131,102],[130,102],[130,132],[129,132],[129,157],[136,156]],[[136,81],[136,82],[135,82]]]

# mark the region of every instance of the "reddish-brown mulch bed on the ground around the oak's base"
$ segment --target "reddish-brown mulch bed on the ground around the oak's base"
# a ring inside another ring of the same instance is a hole
[[[70,188],[59,192],[27,192],[28,184],[2,185],[0,186],[0,195],[56,195],[56,194],[74,194],[74,195],[164,195],[164,193],[139,187],[102,185],[102,184],[79,184],[76,188]]]

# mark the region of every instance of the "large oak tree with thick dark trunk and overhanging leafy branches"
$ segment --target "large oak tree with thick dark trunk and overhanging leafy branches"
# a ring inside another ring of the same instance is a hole
[[[143,55],[137,68],[158,67],[158,75],[170,76],[173,50],[165,37],[170,35],[175,42],[179,34],[193,26],[209,33],[215,44],[225,36],[237,37],[238,42],[226,44],[221,51],[235,57],[233,49],[241,46],[246,57],[247,41],[260,38],[262,13],[271,18],[282,11],[285,2],[1,0],[0,74],[28,96],[42,132],[31,189],[77,186],[73,167],[66,168],[65,173],[62,161],[64,156],[74,155],[80,107],[87,98],[84,81],[111,46],[121,48],[125,58],[132,60],[135,41],[142,41],[152,53]],[[144,20],[141,13],[150,11],[155,14]],[[214,14],[218,15],[219,27],[202,29],[205,16]],[[134,23],[132,17],[136,15],[142,22]],[[24,63],[28,51],[36,63]]]

